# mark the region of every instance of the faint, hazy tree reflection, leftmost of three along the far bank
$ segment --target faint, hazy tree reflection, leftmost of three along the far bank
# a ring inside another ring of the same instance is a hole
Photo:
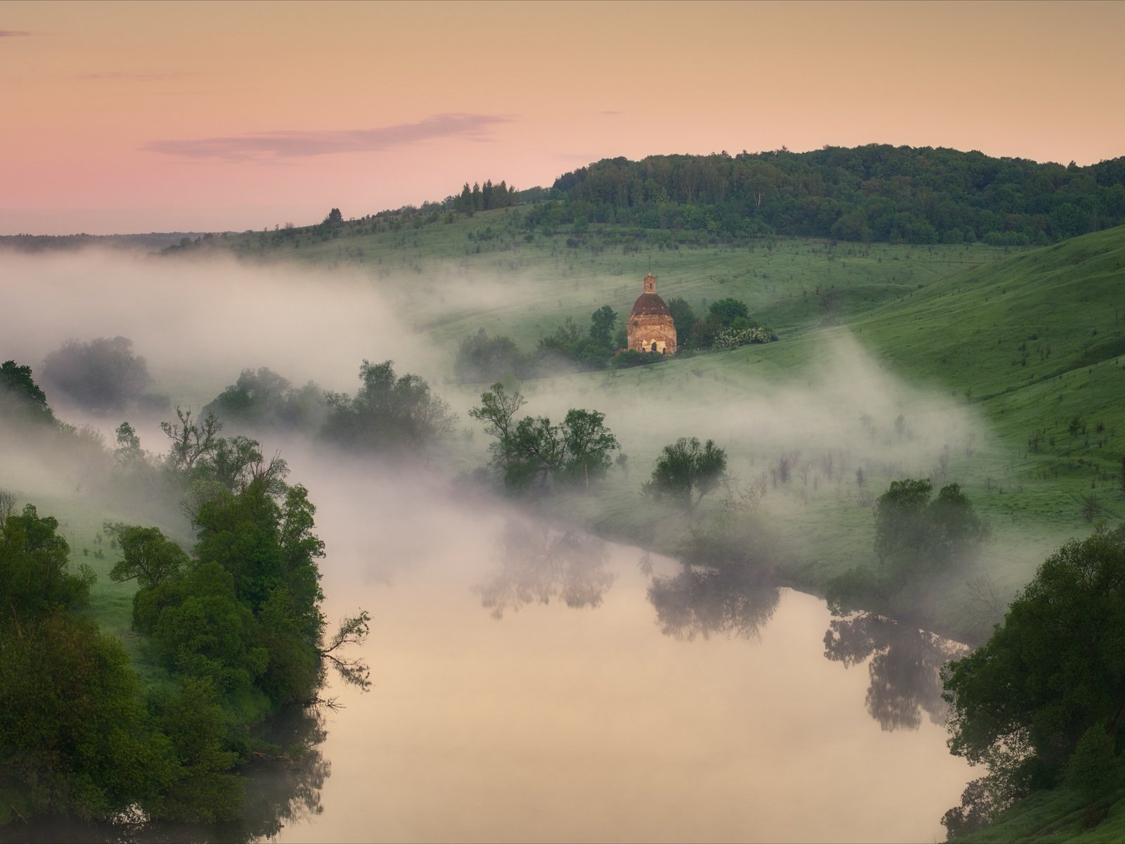
[[[605,542],[580,531],[508,519],[497,546],[498,568],[476,587],[495,619],[505,610],[533,601],[550,603],[552,598],[567,607],[598,607],[613,583],[613,574],[605,571]]]

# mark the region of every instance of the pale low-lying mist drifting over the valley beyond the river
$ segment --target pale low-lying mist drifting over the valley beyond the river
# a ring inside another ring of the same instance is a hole
[[[423,309],[432,315],[434,303],[444,302],[450,318],[464,318],[472,331],[472,313],[511,309],[532,298],[543,281],[462,276],[451,270],[439,278],[374,278],[357,269],[215,257],[9,253],[0,259],[7,305],[0,312],[0,358],[38,370],[68,340],[130,339],[134,352],[147,361],[152,390],[170,399],[162,415],[135,408],[92,414],[66,407],[50,394],[47,399],[61,408],[64,421],[89,425],[90,437],[100,432],[110,448],[114,429],[128,420],[143,447],[154,452],[166,447],[158,422],[170,419],[171,408],[191,406],[198,415],[244,368],[269,367],[294,385],[315,380],[324,389],[354,393],[361,360],[393,359],[397,372],[421,375],[457,414],[450,441],[429,456],[421,487],[404,485],[402,467],[394,470],[400,479],[390,483],[385,479],[389,469],[357,464],[354,456],[336,461],[321,446],[306,449],[299,437],[248,432],[262,441],[263,452],[280,451],[290,460],[290,479],[306,484],[314,502],[349,484],[353,501],[381,495],[388,486],[395,490],[369,510],[377,520],[396,508],[424,506],[430,493],[420,490],[448,484],[488,459],[487,437],[467,415],[487,385],[454,383],[457,339],[439,332],[439,343],[434,332],[416,331],[428,322],[412,307],[424,300]],[[591,308],[597,305],[592,302]],[[793,357],[803,363],[777,367],[786,342],[803,344],[804,351]],[[773,369],[762,363],[765,356],[772,356]],[[727,449],[730,476],[759,490],[765,511],[776,519],[816,500],[846,496],[871,506],[894,478],[929,477],[935,488],[955,482],[958,460],[982,459],[990,442],[986,427],[963,402],[904,384],[839,329],[727,356],[699,354],[512,386],[528,398],[521,415],[558,422],[570,407],[604,413],[632,473],[628,479],[614,475],[615,494],[634,499],[637,506],[642,506],[639,488],[652,461],[680,437],[713,439]],[[33,492],[56,477],[53,488],[62,493],[81,483],[72,469],[50,472],[50,456],[36,460],[21,454],[15,459],[16,446],[6,447],[2,434],[0,448],[7,455],[0,486]],[[296,459],[297,451],[306,450],[318,456]],[[407,494],[407,488],[414,492]],[[387,556],[406,554],[390,549]]]

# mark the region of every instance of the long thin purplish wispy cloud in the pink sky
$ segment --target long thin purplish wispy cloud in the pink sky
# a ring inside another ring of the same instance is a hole
[[[505,115],[448,114],[434,115],[417,123],[372,129],[254,132],[228,137],[153,141],[142,149],[165,155],[196,159],[298,158],[335,152],[375,152],[442,137],[490,141],[489,129],[493,125],[511,123],[513,119]]]

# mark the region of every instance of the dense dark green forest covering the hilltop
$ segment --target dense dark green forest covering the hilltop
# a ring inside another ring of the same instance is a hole
[[[871,144],[605,159],[556,179],[537,224],[848,241],[1045,244],[1125,223],[1125,158],[1090,167]]]

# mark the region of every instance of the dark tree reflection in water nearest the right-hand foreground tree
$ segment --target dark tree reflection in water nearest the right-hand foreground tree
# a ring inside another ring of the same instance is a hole
[[[940,668],[964,646],[872,613],[834,620],[825,632],[825,656],[845,667],[874,654],[867,672],[867,711],[888,731],[918,729],[921,713],[934,724],[948,718]]]

